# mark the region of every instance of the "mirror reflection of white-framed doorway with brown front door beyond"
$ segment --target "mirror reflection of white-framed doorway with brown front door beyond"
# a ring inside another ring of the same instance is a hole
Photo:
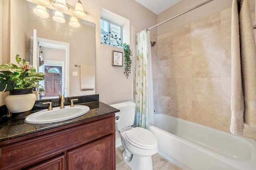
[[[45,79],[39,82],[39,99],[58,98],[58,92],[69,96],[66,77],[69,76],[70,44],[40,37],[36,44],[39,56],[33,57],[33,61],[37,61],[34,66],[45,74]]]

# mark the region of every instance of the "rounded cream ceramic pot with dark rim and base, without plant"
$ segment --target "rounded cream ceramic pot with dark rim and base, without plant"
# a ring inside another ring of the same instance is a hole
[[[30,114],[36,102],[36,95],[32,89],[11,90],[5,98],[5,105],[12,113],[11,119],[21,119]]]

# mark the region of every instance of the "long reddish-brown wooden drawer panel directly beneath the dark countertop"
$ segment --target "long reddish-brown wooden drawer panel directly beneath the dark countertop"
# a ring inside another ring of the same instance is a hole
[[[34,139],[1,147],[0,169],[18,169],[32,165],[68,149],[83,145],[110,133],[114,134],[114,117],[78,125]],[[65,126],[63,127],[65,128]]]

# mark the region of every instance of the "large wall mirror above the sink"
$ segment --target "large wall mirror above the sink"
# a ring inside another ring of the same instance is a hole
[[[95,23],[78,18],[80,27],[72,27],[69,25],[71,16],[68,15],[72,14],[72,9],[67,14],[63,13],[65,23],[57,23],[52,19],[56,10],[50,4],[46,6],[49,17],[42,18],[33,12],[36,8],[34,0],[12,0],[10,3],[10,62],[16,63],[15,56],[19,54],[48,78],[52,76],[52,70],[60,74],[62,77],[59,80],[51,80],[47,84],[49,79],[46,78],[40,82],[44,88],[51,88],[48,92],[52,91],[53,96],[47,94],[47,98],[58,97],[58,91],[65,97],[95,94]],[[44,62],[40,63],[42,60]],[[94,66],[91,76],[93,89],[81,89],[80,67],[76,64]],[[51,70],[51,74],[46,74],[46,70]],[[56,88],[57,84],[62,86]]]

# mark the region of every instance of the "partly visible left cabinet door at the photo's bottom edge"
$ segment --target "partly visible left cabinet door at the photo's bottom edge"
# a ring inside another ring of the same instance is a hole
[[[65,155],[56,156],[24,170],[65,170]]]

